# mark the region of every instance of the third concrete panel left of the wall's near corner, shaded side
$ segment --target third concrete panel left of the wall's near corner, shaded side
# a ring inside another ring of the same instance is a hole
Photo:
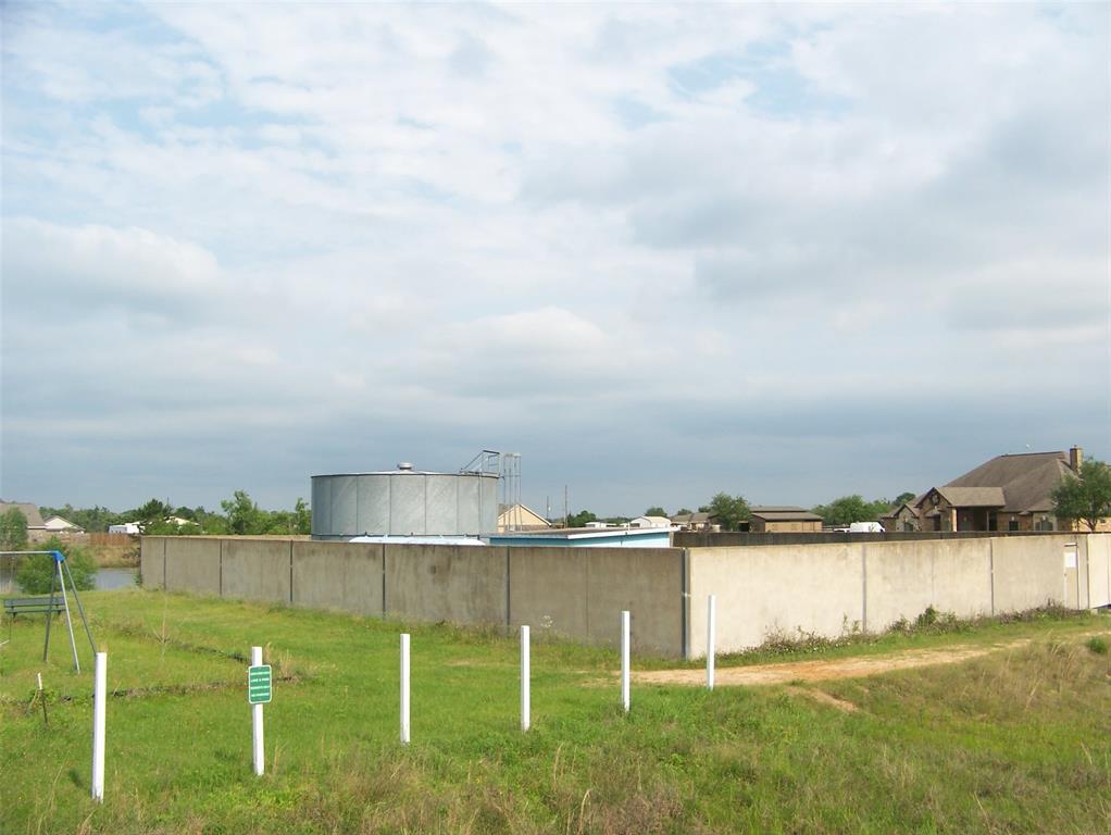
[[[384,546],[373,543],[293,543],[293,605],[386,614]]]

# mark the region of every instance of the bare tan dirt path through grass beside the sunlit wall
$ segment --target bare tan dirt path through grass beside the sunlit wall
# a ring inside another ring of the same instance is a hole
[[[1097,633],[1092,633],[1097,634]],[[1099,634],[1103,634],[1100,632]],[[1081,636],[1077,636],[1081,637]],[[827,682],[834,678],[862,678],[894,669],[913,669],[937,664],[960,664],[1002,649],[1027,646],[1032,638],[1022,638],[988,646],[950,646],[940,649],[907,649],[898,655],[872,655],[859,658],[831,658],[813,662],[758,664],[750,667],[718,667],[714,684],[722,687],[740,685],[789,684],[791,682]],[[655,669],[633,673],[642,684],[705,684],[705,669]]]

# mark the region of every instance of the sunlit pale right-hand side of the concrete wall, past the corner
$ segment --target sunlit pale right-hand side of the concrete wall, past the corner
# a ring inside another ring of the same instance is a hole
[[[1068,567],[1067,546],[1077,565]],[[1111,603],[1111,537],[1055,534],[842,546],[691,548],[690,657],[705,654],[707,597],[717,596],[719,653],[777,633],[882,632],[928,606],[961,617],[1047,603]]]

